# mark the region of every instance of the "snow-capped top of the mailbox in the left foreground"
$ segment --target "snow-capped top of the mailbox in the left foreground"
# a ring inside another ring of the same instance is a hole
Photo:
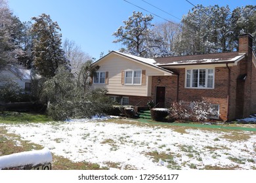
[[[53,156],[48,148],[29,152],[20,152],[7,156],[0,156],[0,170],[25,165],[35,166],[51,163],[51,161],[53,161]]]

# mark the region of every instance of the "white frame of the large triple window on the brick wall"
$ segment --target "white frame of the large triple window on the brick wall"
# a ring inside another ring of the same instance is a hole
[[[199,86],[199,82],[200,82],[200,70],[205,70],[205,87]],[[193,87],[193,70],[198,70],[198,86],[197,87]],[[208,85],[208,72],[209,70],[213,70],[213,87],[207,87]],[[187,86],[187,75],[188,75],[188,71],[190,71],[190,86]],[[214,68],[199,68],[199,69],[186,69],[185,72],[185,88],[193,88],[193,89],[214,89],[215,86],[215,69]]]

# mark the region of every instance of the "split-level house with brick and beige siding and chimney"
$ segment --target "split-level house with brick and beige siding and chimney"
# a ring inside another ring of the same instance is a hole
[[[240,35],[238,52],[140,58],[112,51],[93,63],[100,66],[93,88],[106,88],[122,105],[168,108],[173,101],[209,101],[219,120],[256,112],[256,56],[253,37]]]

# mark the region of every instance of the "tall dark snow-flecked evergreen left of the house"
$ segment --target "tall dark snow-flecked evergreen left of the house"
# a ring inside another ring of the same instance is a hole
[[[41,76],[52,78],[60,65],[68,68],[68,60],[62,50],[62,35],[58,33],[60,27],[53,22],[49,15],[41,14],[33,17],[35,23],[32,25],[33,39],[33,60],[35,70]]]

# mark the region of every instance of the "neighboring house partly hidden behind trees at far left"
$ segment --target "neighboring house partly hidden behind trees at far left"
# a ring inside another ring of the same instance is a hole
[[[20,86],[24,91],[31,92],[32,76],[31,70],[19,69],[13,66],[7,66],[0,71],[0,86],[6,82],[13,81]]]

